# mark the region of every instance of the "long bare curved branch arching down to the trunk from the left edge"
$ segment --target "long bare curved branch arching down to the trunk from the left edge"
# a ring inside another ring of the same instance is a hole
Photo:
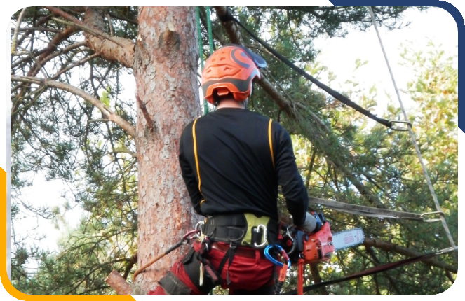
[[[126,120],[121,118],[121,116],[114,113],[111,109],[109,109],[105,104],[100,102],[99,99],[93,97],[92,95],[88,94],[86,91],[83,91],[77,87],[73,87],[72,85],[68,85],[67,83],[59,83],[54,80],[44,80],[43,78],[34,78],[29,76],[11,76],[11,81],[18,81],[22,83],[34,83],[36,85],[48,85],[49,87],[55,87],[60,90],[65,90],[72,94],[75,94],[82,99],[90,102],[93,106],[97,107],[105,116],[108,117],[109,120],[119,125],[123,130],[125,130],[128,134],[135,137],[135,127],[128,123]]]

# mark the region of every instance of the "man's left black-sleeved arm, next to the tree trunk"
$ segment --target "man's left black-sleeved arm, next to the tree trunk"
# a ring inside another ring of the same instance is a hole
[[[186,132],[186,131],[184,131]],[[185,141],[188,137],[184,137],[184,132],[182,132],[181,139],[180,139],[180,167],[181,167],[181,174],[182,179],[184,179],[184,183],[186,183],[187,192],[191,197],[192,206],[197,214],[202,214],[202,209],[200,206],[201,200],[203,200],[203,196],[201,192],[198,190],[198,183],[196,179],[196,175],[194,174],[194,170],[191,168],[189,161],[186,157],[185,148],[191,147],[194,148],[193,143]],[[192,138],[191,138],[192,139]],[[191,140],[189,139],[189,141]]]

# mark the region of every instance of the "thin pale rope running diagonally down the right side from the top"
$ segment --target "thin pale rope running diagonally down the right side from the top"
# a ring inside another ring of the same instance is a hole
[[[391,70],[391,66],[389,65],[389,61],[388,61],[388,58],[387,58],[387,55],[386,55],[386,51],[384,51],[384,46],[383,46],[383,42],[381,41],[381,36],[379,36],[378,27],[377,27],[376,22],[375,22],[375,15],[373,15],[373,10],[371,9],[370,6],[368,6],[368,10],[370,10],[371,20],[372,20],[373,26],[375,27],[376,34],[378,36],[379,45],[381,45],[381,49],[383,50],[383,54],[384,54],[384,59],[386,59],[386,64],[388,66],[389,73],[391,73],[391,80],[392,80],[392,83],[394,84],[394,89],[396,89],[396,94],[397,94],[397,98],[399,99],[400,109],[402,109],[402,113],[404,114],[405,121],[408,121],[407,112],[405,111],[402,100],[400,99],[400,93],[399,93],[399,90],[398,90],[397,85],[396,85],[396,80],[394,80],[394,76],[393,76],[393,73],[392,73],[392,70]],[[417,139],[415,138],[415,134],[413,133],[412,125],[410,123],[408,123],[407,127],[408,127],[408,132],[410,134],[410,138],[412,138],[413,146],[415,146],[415,151],[417,151],[417,155],[418,155],[418,158],[419,158],[419,161],[420,161],[420,165],[422,165],[423,174],[424,174],[424,177],[426,179],[426,183],[428,183],[429,191],[431,192],[431,196],[433,197],[434,204],[436,205],[436,209],[437,209],[437,211],[442,212],[442,210],[441,210],[441,208],[439,206],[438,197],[436,197],[436,193],[434,193],[433,184],[431,184],[431,179],[429,179],[428,171],[426,170],[426,166],[424,165],[423,158],[422,158],[422,153],[420,153],[420,150],[418,148]],[[457,248],[457,246],[454,243],[454,239],[452,239],[452,235],[450,234],[449,227],[447,227],[447,223],[445,222],[445,218],[444,218],[443,214],[440,215],[440,221],[443,223],[445,233],[447,235],[447,238],[450,241],[450,246],[452,246],[452,248]]]

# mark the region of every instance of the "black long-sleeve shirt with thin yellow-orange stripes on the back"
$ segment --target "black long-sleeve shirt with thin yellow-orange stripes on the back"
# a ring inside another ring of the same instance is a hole
[[[269,118],[246,109],[223,108],[187,125],[179,158],[198,214],[249,212],[278,220],[281,185],[294,223],[304,223],[309,197],[297,170],[292,141],[273,121],[271,154],[269,122]]]

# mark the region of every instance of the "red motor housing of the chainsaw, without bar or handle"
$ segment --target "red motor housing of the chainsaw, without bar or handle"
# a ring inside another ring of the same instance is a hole
[[[304,240],[305,263],[317,263],[329,261],[330,254],[335,251],[332,245],[332,233],[330,223],[324,223],[316,233],[309,235],[309,239]]]

